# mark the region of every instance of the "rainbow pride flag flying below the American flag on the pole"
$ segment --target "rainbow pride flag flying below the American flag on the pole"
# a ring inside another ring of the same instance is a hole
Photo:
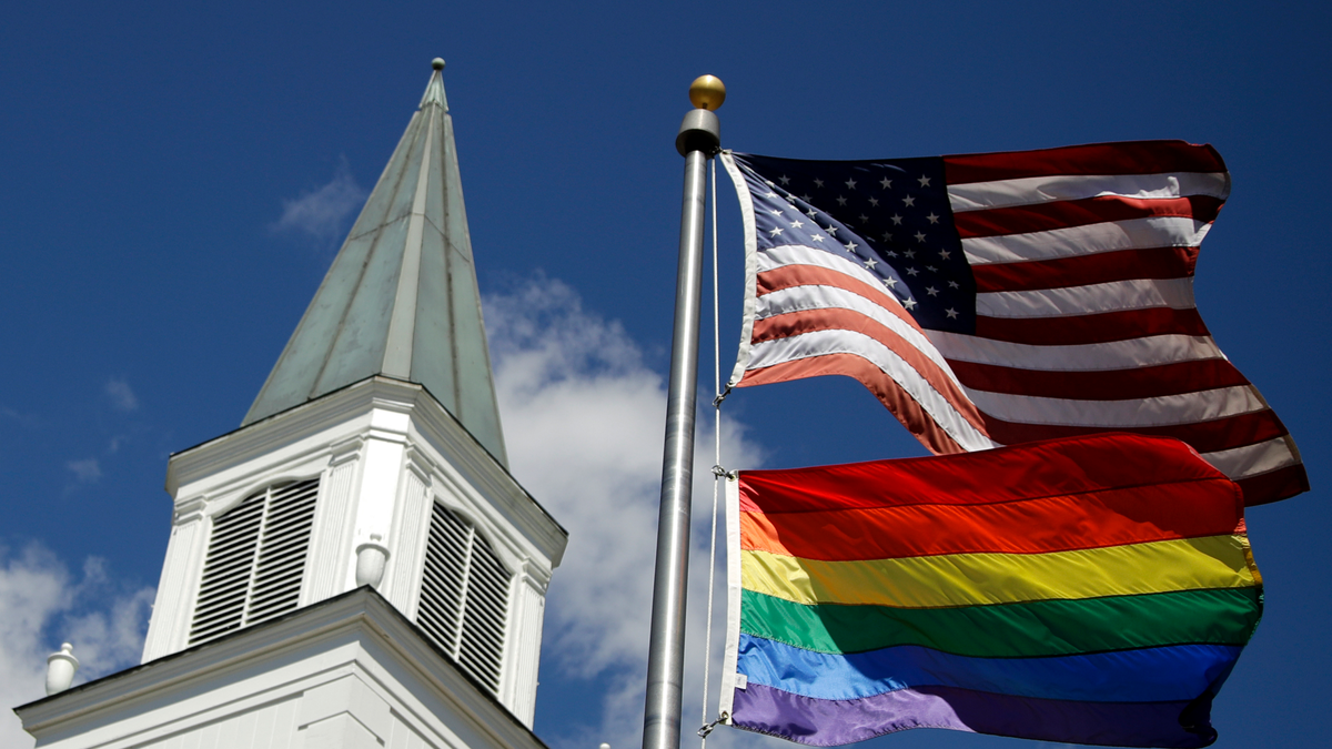
[[[746,470],[727,504],[721,710],[801,744],[1207,746],[1261,616],[1240,489],[1175,440]]]

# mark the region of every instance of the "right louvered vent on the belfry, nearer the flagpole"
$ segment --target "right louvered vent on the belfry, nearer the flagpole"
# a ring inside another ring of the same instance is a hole
[[[509,580],[485,537],[434,502],[417,624],[493,693],[503,664]]]

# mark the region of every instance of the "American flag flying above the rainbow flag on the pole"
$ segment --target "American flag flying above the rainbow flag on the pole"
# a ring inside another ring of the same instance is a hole
[[[722,163],[747,251],[733,386],[847,374],[935,453],[1136,432],[1188,442],[1248,505],[1308,489],[1193,305],[1231,184],[1211,147]]]

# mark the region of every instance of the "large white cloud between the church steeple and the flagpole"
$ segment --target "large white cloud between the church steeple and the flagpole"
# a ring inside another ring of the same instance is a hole
[[[569,529],[547,597],[542,668],[594,680],[602,690],[597,725],[546,738],[625,749],[642,730],[665,382],[618,323],[582,311],[559,281],[538,279],[485,301],[511,469]],[[699,393],[701,404],[709,400]],[[705,410],[695,442],[686,726],[697,720],[702,682],[713,465],[711,409]],[[734,420],[723,425],[723,449],[729,468],[761,460]],[[725,606],[721,588],[717,606],[719,613]]]

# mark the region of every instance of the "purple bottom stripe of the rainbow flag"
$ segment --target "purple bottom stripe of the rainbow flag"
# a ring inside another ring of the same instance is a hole
[[[811,746],[912,728],[1111,746],[1207,746],[1216,740],[1211,709],[1209,693],[1193,702],[1071,702],[918,686],[859,700],[815,700],[750,684],[735,690],[731,720],[737,728]]]

